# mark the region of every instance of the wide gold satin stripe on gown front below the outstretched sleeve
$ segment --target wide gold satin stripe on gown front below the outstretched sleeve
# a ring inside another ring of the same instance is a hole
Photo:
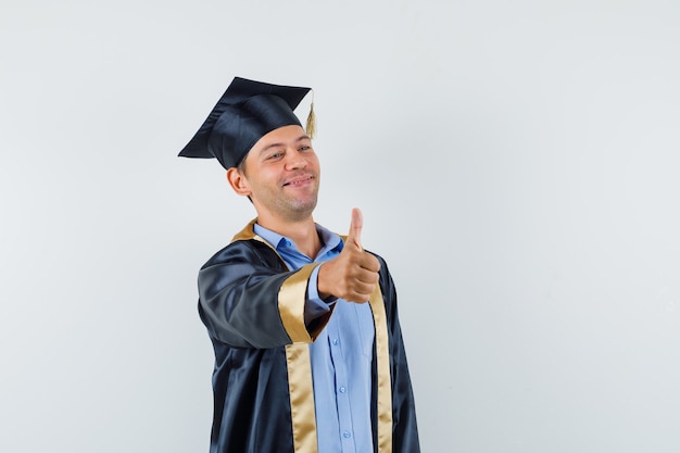
[[[317,453],[312,361],[307,344],[288,344],[288,390],[295,453]]]

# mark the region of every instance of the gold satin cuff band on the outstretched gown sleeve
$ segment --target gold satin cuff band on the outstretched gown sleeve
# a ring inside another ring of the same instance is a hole
[[[311,343],[312,337],[304,324],[304,303],[307,280],[312,270],[320,263],[307,264],[284,280],[278,292],[278,311],[284,328],[293,343]]]

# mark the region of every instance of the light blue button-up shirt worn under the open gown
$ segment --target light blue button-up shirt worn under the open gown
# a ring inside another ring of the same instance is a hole
[[[255,234],[269,242],[291,270],[332,260],[342,250],[342,239],[317,225],[324,246],[316,257],[301,253],[294,242],[257,224]],[[310,344],[318,453],[373,452],[370,387],[375,327],[367,303],[322,300],[317,266],[310,277],[305,320],[327,313],[335,304],[326,328]]]

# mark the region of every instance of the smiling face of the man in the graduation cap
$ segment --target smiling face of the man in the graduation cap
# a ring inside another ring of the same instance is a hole
[[[263,136],[244,160],[243,185],[260,216],[308,217],[316,206],[320,168],[312,140],[300,126]]]

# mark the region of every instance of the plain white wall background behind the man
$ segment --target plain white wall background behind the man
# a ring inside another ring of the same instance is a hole
[[[0,451],[207,451],[234,76],[314,88],[424,451],[680,451],[679,4],[1,0]]]

